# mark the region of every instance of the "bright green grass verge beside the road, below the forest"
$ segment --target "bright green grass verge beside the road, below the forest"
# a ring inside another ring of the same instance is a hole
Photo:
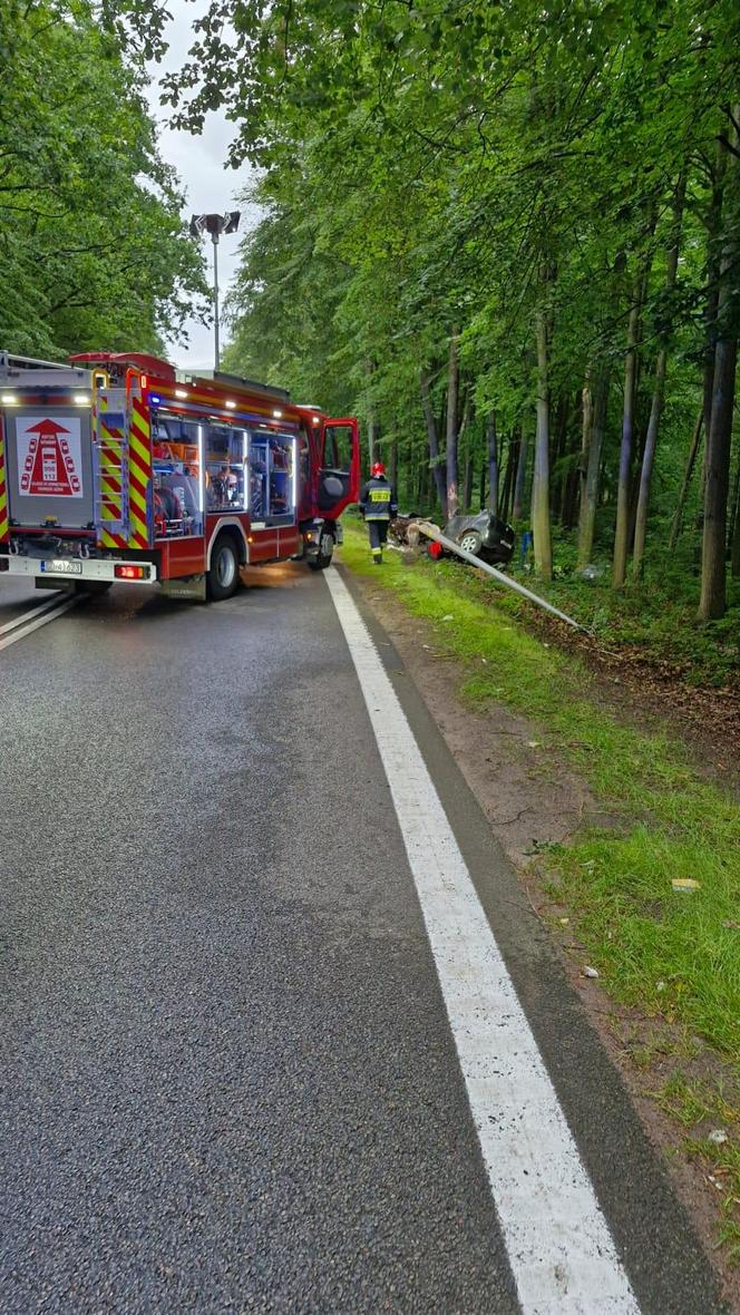
[[[556,898],[568,906],[603,988],[619,1003],[702,1038],[740,1085],[737,805],[699,777],[678,740],[626,725],[597,701],[585,664],[523,630],[497,601],[498,586],[476,581],[472,589],[455,564],[422,558],[409,567],[394,552],[375,569],[361,527],[351,523],[342,560],[436,626],[440,650],[460,659],[464,701],[497,701],[526,714],[540,729],[543,755],[565,760],[618,818],[611,831],[582,830],[548,847],[540,861]],[[680,893],[676,878],[698,888]],[[653,1094],[677,1118],[677,1093]],[[686,1101],[681,1107],[694,1109]],[[714,1090],[708,1101],[703,1091],[695,1112],[678,1119],[685,1149],[719,1184],[723,1241],[740,1262],[737,1093]],[[720,1144],[706,1137],[712,1118],[728,1134]]]

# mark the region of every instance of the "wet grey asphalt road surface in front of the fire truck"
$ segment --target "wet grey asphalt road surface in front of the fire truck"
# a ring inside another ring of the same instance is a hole
[[[0,580],[0,640],[39,601]],[[635,1301],[712,1315],[620,1082],[368,619]],[[0,651],[0,1311],[626,1311],[522,1298],[326,581],[263,569],[209,608],[120,588],[18,630]]]

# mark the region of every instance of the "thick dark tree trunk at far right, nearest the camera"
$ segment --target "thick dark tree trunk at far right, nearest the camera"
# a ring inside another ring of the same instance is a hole
[[[740,105],[733,109],[735,124],[740,121]],[[737,330],[733,323],[733,266],[740,242],[735,231],[736,192],[740,181],[739,133],[732,128],[729,159],[727,163],[727,206],[724,243],[720,259],[718,301],[718,330],[714,362],[711,423],[707,434],[707,485],[705,490],[705,530],[702,538],[702,589],[699,621],[723,617],[726,609],[726,544],[727,500],[729,494],[729,456],[732,444],[732,408],[735,402],[735,370],[737,363]]]

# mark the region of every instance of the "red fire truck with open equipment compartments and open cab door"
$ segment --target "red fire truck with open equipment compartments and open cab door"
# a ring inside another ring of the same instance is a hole
[[[358,422],[142,352],[0,352],[0,577],[229,598],[241,568],[314,571],[358,498]]]

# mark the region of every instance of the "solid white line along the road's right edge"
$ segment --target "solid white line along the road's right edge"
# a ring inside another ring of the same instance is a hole
[[[639,1315],[501,951],[355,602],[325,573],[393,796],[524,1315]]]

